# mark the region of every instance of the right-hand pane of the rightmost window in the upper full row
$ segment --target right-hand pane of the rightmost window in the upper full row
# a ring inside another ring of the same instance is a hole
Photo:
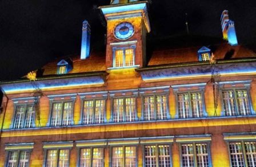
[[[239,115],[250,115],[250,106],[246,90],[237,91],[237,103]]]

